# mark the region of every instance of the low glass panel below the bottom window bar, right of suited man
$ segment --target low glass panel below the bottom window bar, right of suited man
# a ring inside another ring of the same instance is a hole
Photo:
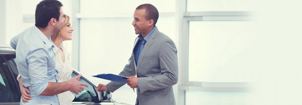
[[[186,91],[186,105],[252,105],[250,93]]]

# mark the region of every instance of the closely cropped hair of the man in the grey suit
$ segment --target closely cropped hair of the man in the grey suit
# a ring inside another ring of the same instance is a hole
[[[147,20],[153,19],[154,26],[155,26],[155,24],[157,22],[157,19],[158,19],[158,16],[159,16],[157,9],[152,4],[142,4],[142,5],[140,5],[136,8],[136,10],[141,10],[141,9],[146,10],[146,17],[145,18]]]

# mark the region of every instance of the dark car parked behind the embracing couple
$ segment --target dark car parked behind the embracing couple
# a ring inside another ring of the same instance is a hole
[[[20,105],[21,92],[17,76],[15,50],[8,45],[0,45],[0,105]],[[73,71],[72,77],[78,75],[79,72]],[[72,104],[81,105],[117,105],[114,99],[111,99],[110,92],[98,92],[96,85],[85,77],[78,79],[82,83],[86,83],[89,87],[84,87],[84,91],[75,95]]]

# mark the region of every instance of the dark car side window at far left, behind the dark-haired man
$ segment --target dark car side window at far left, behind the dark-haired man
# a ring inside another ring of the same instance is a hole
[[[20,102],[17,83],[10,71],[4,55],[0,54],[0,103]]]

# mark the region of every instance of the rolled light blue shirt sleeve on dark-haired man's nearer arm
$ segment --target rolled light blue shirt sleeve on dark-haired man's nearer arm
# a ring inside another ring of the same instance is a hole
[[[33,90],[36,90],[36,95],[41,94],[48,86],[48,60],[47,53],[43,48],[30,51],[26,56],[31,86]]]

